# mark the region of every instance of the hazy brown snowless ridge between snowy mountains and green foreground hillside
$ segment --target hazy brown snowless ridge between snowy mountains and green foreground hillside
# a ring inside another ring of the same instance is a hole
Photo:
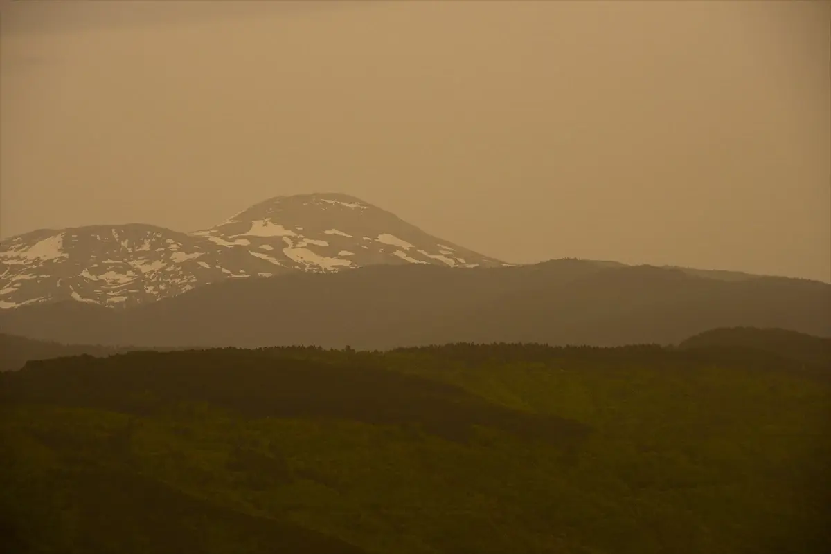
[[[719,327],[831,337],[831,284],[583,260],[468,270],[378,265],[208,284],[120,311],[72,302],[0,312],[3,333],[140,347],[675,344]]]

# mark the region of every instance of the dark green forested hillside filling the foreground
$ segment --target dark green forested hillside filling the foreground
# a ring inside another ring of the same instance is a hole
[[[4,552],[831,552],[831,382],[794,372],[794,358],[757,367],[708,348],[29,362],[0,375],[0,541]]]

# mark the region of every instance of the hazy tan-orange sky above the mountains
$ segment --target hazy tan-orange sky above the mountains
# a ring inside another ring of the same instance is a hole
[[[0,236],[345,192],[513,262],[831,280],[829,2],[0,0]]]

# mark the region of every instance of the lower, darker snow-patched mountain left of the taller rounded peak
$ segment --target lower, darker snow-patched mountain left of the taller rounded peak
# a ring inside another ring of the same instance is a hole
[[[288,270],[241,246],[138,224],[32,231],[0,242],[0,309],[61,300],[126,307]]]

